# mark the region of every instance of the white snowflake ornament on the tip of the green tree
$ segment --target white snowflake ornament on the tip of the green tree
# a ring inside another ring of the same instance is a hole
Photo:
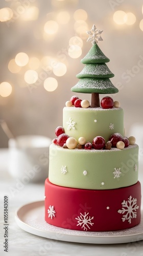
[[[99,30],[95,25],[93,25],[91,30],[86,31],[86,33],[89,35],[87,42],[91,41],[92,45],[94,45],[98,43],[98,41],[103,41],[103,38],[101,37],[102,32],[103,30]]]

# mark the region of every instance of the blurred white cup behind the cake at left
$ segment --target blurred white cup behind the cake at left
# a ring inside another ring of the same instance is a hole
[[[9,139],[9,173],[24,184],[48,177],[51,139],[23,135]]]

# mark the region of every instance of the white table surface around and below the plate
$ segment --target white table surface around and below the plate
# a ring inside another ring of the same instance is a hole
[[[80,244],[50,240],[34,236],[20,229],[15,223],[15,211],[22,205],[34,201],[44,200],[44,182],[41,184],[29,183],[14,195],[10,193],[10,187],[16,189],[16,181],[8,173],[9,155],[7,149],[0,150],[0,189],[1,189],[1,230],[0,230],[0,255],[7,255],[4,252],[4,195],[9,196],[9,252],[10,256],[52,256],[52,255],[110,255],[110,256],[143,256],[143,240],[126,244]],[[143,172],[139,168],[139,180],[143,187]]]

